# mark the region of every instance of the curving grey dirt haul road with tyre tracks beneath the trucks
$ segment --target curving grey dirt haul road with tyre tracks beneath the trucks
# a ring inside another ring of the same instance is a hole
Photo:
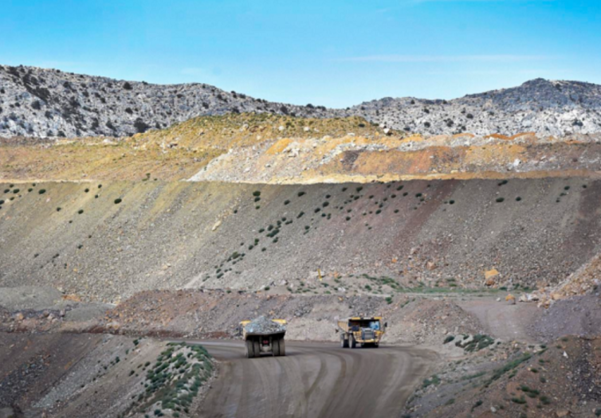
[[[286,341],[285,357],[247,359],[241,342],[202,342],[221,362],[199,415],[395,417],[437,355],[415,347],[343,349]]]

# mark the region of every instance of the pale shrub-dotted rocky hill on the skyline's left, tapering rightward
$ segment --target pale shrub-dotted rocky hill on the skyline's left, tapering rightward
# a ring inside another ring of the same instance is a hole
[[[206,84],[156,85],[0,66],[0,136],[127,136],[199,115],[269,112],[323,117],[324,107],[253,99]]]

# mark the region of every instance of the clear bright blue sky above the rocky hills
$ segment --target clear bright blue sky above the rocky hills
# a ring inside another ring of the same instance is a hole
[[[3,0],[0,64],[333,107],[601,84],[601,1]]]

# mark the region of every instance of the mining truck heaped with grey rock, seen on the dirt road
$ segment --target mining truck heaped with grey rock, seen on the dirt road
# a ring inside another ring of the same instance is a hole
[[[259,357],[261,354],[286,355],[286,320],[259,317],[252,321],[242,321],[240,325],[248,358]]]

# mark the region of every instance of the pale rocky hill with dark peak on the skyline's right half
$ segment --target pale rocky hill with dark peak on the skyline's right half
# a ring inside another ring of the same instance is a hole
[[[372,122],[430,135],[595,133],[601,131],[601,86],[536,79],[451,101],[384,98],[352,110]]]

